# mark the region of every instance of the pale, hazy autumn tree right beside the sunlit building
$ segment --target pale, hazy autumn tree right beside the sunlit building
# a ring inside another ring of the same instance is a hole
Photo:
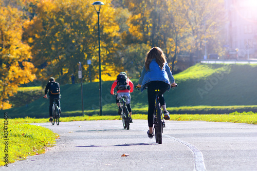
[[[187,21],[191,32],[189,49],[197,55],[198,59],[202,58],[205,43],[214,41],[217,45],[222,41],[219,34],[225,23],[224,1],[187,1],[187,5],[181,8],[185,11],[181,16]],[[218,47],[213,45],[213,48]]]

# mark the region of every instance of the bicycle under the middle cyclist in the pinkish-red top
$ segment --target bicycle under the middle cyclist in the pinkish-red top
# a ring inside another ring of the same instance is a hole
[[[117,95],[117,93],[114,93],[114,95]],[[121,96],[120,107],[122,109],[121,111],[122,125],[124,129],[126,128],[130,129],[130,113],[127,110],[125,96]]]

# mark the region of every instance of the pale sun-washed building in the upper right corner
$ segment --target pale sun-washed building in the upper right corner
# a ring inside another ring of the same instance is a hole
[[[225,0],[227,59],[257,59],[257,0]]]

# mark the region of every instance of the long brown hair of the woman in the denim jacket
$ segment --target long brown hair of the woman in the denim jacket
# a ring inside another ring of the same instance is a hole
[[[163,69],[165,63],[167,63],[166,56],[159,47],[153,47],[145,56],[144,67],[146,71],[149,71],[150,63],[155,59],[160,69]]]

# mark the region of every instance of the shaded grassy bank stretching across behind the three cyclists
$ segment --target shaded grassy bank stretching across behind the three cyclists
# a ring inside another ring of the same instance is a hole
[[[257,65],[196,64],[174,75],[178,87],[164,94],[168,110],[173,114],[257,112],[256,73]],[[132,81],[136,85],[138,80]],[[103,115],[117,115],[115,96],[110,94],[112,83],[102,82]],[[61,93],[62,116],[81,116],[81,85],[61,85]],[[85,114],[98,115],[99,83],[84,83],[83,99]],[[133,113],[146,114],[147,92],[134,90],[131,106]],[[11,118],[48,118],[48,107],[49,100],[40,98],[2,113],[8,112]]]

